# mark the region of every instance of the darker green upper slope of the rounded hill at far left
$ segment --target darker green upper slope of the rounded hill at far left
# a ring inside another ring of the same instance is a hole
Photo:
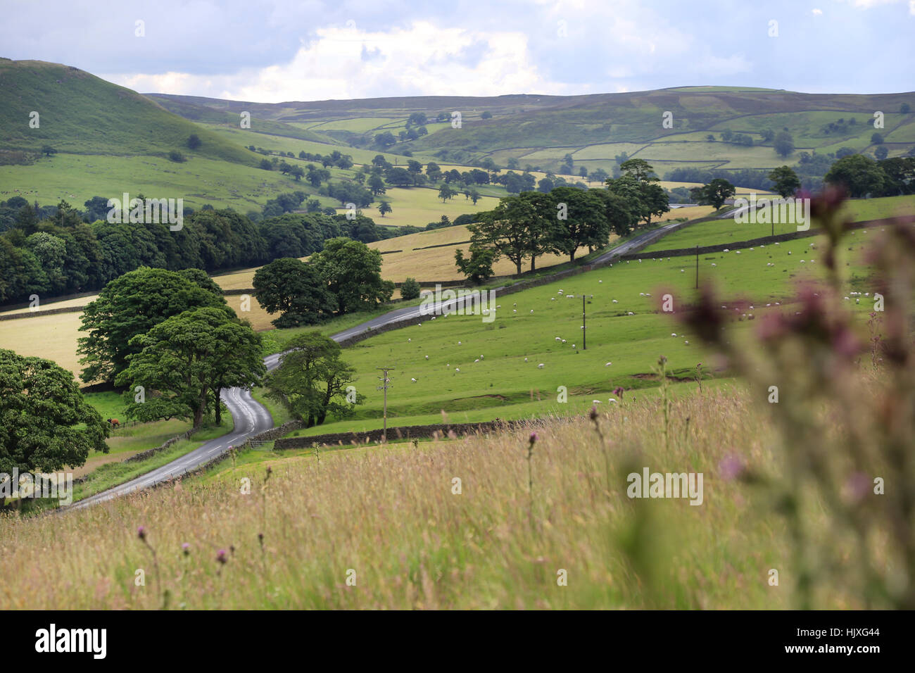
[[[29,114],[39,127],[29,127]],[[197,134],[202,144],[186,146]],[[145,96],[81,71],[38,60],[0,59],[0,149],[93,155],[190,157],[252,166],[242,147],[227,143]]]

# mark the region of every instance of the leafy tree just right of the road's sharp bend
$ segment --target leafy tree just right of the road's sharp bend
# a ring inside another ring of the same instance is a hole
[[[309,331],[286,345],[289,350],[280,366],[264,379],[267,396],[302,418],[307,428],[323,423],[328,413],[348,416],[352,405],[346,401],[346,388],[356,369],[340,360],[339,343]],[[356,401],[361,402],[361,397]]]

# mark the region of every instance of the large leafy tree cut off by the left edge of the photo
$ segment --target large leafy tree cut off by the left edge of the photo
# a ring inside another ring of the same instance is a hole
[[[108,452],[108,425],[73,374],[38,357],[0,349],[0,472],[79,467]]]

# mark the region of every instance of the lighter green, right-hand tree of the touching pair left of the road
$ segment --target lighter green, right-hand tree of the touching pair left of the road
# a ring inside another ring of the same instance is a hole
[[[310,264],[327,284],[338,315],[370,310],[391,300],[394,284],[382,280],[382,254],[364,243],[331,238]]]

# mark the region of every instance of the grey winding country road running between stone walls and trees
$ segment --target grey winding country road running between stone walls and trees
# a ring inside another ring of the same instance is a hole
[[[620,255],[627,255],[633,251],[633,248],[637,248],[640,245],[650,244],[657,239],[661,238],[666,233],[670,233],[671,230],[677,227],[677,224],[682,223],[672,223],[666,224],[658,229],[653,229],[651,232],[641,233],[635,238],[627,241],[624,244],[619,244],[617,247],[609,250],[604,255],[600,255],[595,259],[591,264],[597,264],[598,262],[608,262],[615,257]],[[501,289],[504,287],[495,288],[496,295],[498,296]],[[436,302],[435,312],[438,313],[441,309],[452,309],[458,305],[461,300],[450,299],[448,301]],[[340,331],[337,334],[334,334],[330,338],[336,342],[342,342],[344,340],[350,339],[361,332],[366,331],[367,329],[378,329],[384,325],[388,325],[392,322],[397,322],[399,320],[410,320],[413,318],[419,318],[422,315],[428,315],[429,308],[425,307],[425,313],[422,312],[420,306],[409,306],[404,309],[394,309],[385,313],[382,316],[373,318],[371,320],[366,320],[355,327],[351,327],[349,330]],[[274,353],[273,355],[268,355],[264,358],[264,364],[267,367],[267,370],[275,369],[279,366],[279,361],[282,353]],[[120,495],[134,493],[135,491],[141,491],[145,488],[155,486],[159,483],[165,483],[176,477],[180,477],[187,472],[193,472],[198,469],[201,465],[213,460],[214,458],[220,456],[222,453],[229,450],[229,447],[241,445],[249,437],[264,432],[274,427],[274,419],[271,418],[270,412],[267,411],[264,405],[257,402],[251,395],[250,390],[244,390],[242,388],[224,388],[221,391],[222,401],[225,402],[226,407],[229,408],[231,417],[235,422],[234,428],[231,433],[228,435],[223,435],[222,437],[216,440],[210,440],[200,446],[198,449],[192,450],[189,453],[181,456],[180,458],[158,467],[155,470],[146,472],[142,476],[136,477],[129,482],[122,483],[118,486],[113,486],[106,491],[101,493],[91,495],[83,500],[80,500],[72,505],[66,507],[66,510],[71,511],[74,509],[81,509],[83,507],[88,507],[90,505],[97,505],[98,503],[103,503],[108,500],[112,500]]]

